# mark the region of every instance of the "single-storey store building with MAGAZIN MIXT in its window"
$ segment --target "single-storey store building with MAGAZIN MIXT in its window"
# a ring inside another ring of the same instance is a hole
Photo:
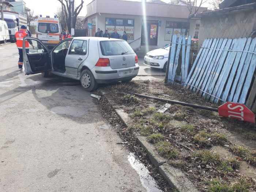
[[[152,1],[151,1],[152,2]],[[199,8],[203,12],[206,8]],[[97,28],[103,33],[116,29],[122,37],[128,35],[128,43],[134,50],[146,44],[149,48],[160,48],[170,43],[172,34],[195,35],[196,20],[192,20],[188,29],[189,10],[184,5],[149,3],[123,0],[93,0],[87,5],[85,25],[93,25],[88,30],[94,36]]]

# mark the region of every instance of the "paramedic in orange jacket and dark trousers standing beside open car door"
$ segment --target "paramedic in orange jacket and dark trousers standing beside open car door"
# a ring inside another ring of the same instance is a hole
[[[25,25],[22,25],[20,27],[20,30],[15,33],[15,37],[14,37],[14,42],[16,43],[17,48],[19,50],[19,61],[18,61],[19,70],[22,70],[22,66],[23,66],[23,53],[22,53],[23,37],[29,36],[29,34],[27,34],[26,32],[26,29],[27,27]],[[33,47],[33,49],[35,49],[32,41],[29,39],[25,43],[27,53],[29,52],[29,44]]]

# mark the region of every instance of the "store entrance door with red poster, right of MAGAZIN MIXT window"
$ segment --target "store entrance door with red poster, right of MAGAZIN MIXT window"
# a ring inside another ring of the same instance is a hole
[[[157,45],[158,37],[158,21],[147,20],[146,33],[144,33],[145,27],[142,25],[141,45]]]

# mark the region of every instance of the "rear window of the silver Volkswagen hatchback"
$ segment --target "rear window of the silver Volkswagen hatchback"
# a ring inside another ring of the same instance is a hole
[[[104,56],[135,54],[126,41],[101,41],[100,45]]]

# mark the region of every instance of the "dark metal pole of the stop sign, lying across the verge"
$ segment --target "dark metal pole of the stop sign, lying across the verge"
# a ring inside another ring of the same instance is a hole
[[[167,102],[167,103],[174,103],[174,104],[178,104],[178,105],[184,105],[184,106],[189,106],[189,107],[193,107],[193,108],[206,109],[206,110],[218,112],[217,108],[206,107],[206,106],[202,106],[202,105],[195,105],[195,104],[185,103],[185,102],[180,102],[180,101],[174,101],[174,100],[170,100],[170,99],[162,99],[162,98],[158,98],[158,97],[152,97],[152,96],[148,96],[148,95],[133,93],[131,91],[129,91],[129,93],[137,95],[139,97],[148,98],[148,99],[155,99],[155,100],[163,101],[163,102]]]

